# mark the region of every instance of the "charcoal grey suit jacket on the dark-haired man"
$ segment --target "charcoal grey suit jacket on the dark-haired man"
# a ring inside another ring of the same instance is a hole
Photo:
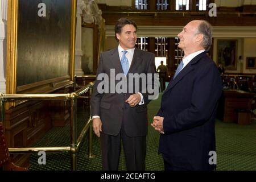
[[[114,69],[114,76],[118,73],[123,73],[117,48],[101,53],[97,77],[100,73],[106,73],[106,75],[108,75],[108,79],[106,80],[110,83],[110,69]],[[139,75],[141,73],[155,73],[154,54],[135,48],[128,73],[138,73]],[[154,79],[154,77],[152,77],[152,79]],[[129,77],[127,77],[127,82],[128,81]],[[150,100],[148,100],[148,93],[142,93],[144,83],[142,83],[141,80],[139,81],[139,92],[143,95],[144,104],[130,107],[125,101],[131,94],[137,93],[134,92],[135,90],[133,93],[99,93],[97,87],[100,82],[102,81],[96,78],[93,87],[91,107],[92,115],[100,115],[102,133],[114,136],[118,135],[123,122],[123,128],[129,137],[146,135],[147,104]],[[118,82],[119,80],[115,80],[115,85],[117,85]],[[129,90],[129,84],[127,84],[127,90]]]

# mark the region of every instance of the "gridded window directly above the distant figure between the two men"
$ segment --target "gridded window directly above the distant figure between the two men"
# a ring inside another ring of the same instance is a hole
[[[168,57],[168,38],[155,38],[155,56]]]

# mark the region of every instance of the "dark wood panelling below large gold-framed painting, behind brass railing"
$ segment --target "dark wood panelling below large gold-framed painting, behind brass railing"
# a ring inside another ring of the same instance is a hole
[[[5,111],[8,147],[28,147],[51,128],[47,101],[28,101]],[[15,164],[28,167],[29,154],[11,155]]]

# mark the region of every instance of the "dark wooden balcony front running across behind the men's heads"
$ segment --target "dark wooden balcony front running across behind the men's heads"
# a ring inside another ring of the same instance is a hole
[[[114,25],[122,17],[133,19],[138,26],[184,26],[195,19],[207,20],[212,26],[256,26],[256,14],[217,14],[217,17],[209,17],[208,14],[136,14],[105,11],[102,16],[106,20],[106,26]]]

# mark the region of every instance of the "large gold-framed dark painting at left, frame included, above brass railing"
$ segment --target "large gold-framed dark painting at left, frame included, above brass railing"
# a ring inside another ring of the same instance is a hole
[[[8,94],[50,93],[73,82],[77,1],[43,1],[45,16],[40,2],[8,1]]]

